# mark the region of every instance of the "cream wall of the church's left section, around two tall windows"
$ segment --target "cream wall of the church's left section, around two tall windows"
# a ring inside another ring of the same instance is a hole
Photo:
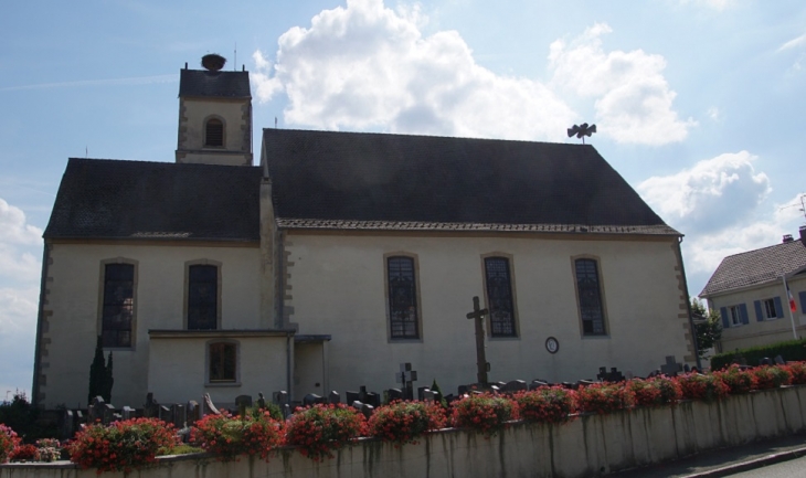
[[[148,392],[149,329],[182,329],[185,263],[221,263],[221,323],[254,329],[259,320],[259,249],[251,246],[53,244],[47,266],[41,392],[47,408],[86,405],[89,364],[100,333],[102,261],[137,261],[135,344],[114,349],[116,406],[139,406]],[[52,312],[52,315],[50,314]],[[108,353],[108,352],[107,352]],[[199,360],[203,361],[203,355]],[[157,392],[157,391],[155,391]],[[159,399],[159,395],[157,395]],[[188,399],[184,399],[188,400]]]

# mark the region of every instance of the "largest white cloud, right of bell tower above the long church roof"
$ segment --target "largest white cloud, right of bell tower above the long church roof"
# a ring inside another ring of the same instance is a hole
[[[422,11],[400,11],[348,0],[288,30],[272,67],[254,54],[256,96],[285,93],[286,123],[324,129],[563,138],[575,115],[545,85],[496,75],[457,32],[423,36]]]

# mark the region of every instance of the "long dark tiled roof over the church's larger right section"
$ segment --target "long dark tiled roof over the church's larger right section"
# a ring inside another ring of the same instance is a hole
[[[287,129],[264,145],[286,226],[678,234],[590,145]]]

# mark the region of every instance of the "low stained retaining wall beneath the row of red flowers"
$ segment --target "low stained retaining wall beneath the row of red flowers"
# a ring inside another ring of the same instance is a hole
[[[513,424],[485,439],[466,431],[428,434],[416,445],[363,439],[316,464],[293,449],[266,464],[244,457],[219,463],[199,455],[166,457],[129,474],[141,478],[203,477],[591,477],[677,459],[707,449],[789,435],[806,429],[806,386],[732,395],[717,403],[584,415],[549,426]],[[118,474],[123,476],[123,474]],[[118,476],[109,475],[109,476]],[[0,478],[92,478],[66,463],[0,466]]]

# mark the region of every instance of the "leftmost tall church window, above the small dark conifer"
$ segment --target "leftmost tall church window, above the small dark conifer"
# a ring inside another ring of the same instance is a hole
[[[104,265],[100,336],[104,347],[131,347],[135,317],[134,264]]]

